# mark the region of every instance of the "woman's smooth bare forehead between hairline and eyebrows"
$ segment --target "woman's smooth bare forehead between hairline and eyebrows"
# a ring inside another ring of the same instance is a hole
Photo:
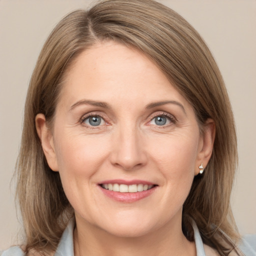
[[[122,104],[178,99],[188,104],[149,58],[113,41],[78,55],[67,71],[61,98],[69,105],[82,98]]]

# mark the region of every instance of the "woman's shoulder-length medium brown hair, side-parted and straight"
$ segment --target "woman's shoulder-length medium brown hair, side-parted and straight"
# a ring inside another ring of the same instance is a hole
[[[218,231],[238,238],[229,205],[237,163],[230,102],[219,69],[200,35],[175,11],[153,0],[100,1],[88,11],[76,10],[65,16],[47,38],[27,92],[16,165],[26,252],[32,248],[43,253],[54,251],[73,215],[59,174],[49,168],[43,155],[35,116],[43,113],[47,123],[52,123],[66,70],[79,53],[103,40],[134,47],[153,60],[190,102],[200,127],[207,118],[214,120],[212,156],[204,174],[195,176],[184,202],[182,229],[193,239],[192,218],[203,242],[225,255]]]

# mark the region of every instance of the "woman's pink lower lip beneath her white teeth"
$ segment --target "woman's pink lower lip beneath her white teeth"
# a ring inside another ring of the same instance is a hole
[[[148,190],[145,190],[145,191],[134,192],[134,193],[115,192],[115,191],[105,189],[101,186],[99,186],[99,188],[106,196],[110,197],[113,200],[120,201],[120,202],[135,202],[135,201],[141,200],[141,199],[149,196],[150,194],[152,194],[155,191],[156,186],[154,186]]]

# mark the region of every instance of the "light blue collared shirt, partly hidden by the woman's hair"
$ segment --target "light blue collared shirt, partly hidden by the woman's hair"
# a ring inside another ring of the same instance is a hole
[[[194,241],[196,247],[196,256],[208,256],[205,254],[204,245],[199,233],[199,230],[195,224],[192,222],[194,229]],[[73,256],[73,229],[74,229],[74,219],[71,219],[59,241],[58,247],[55,251],[54,256]],[[235,251],[229,254],[239,255],[239,256],[256,256],[256,235],[249,235],[242,238],[238,245],[235,245]],[[24,256],[23,251],[19,246],[12,246],[9,249],[2,251],[0,256]]]

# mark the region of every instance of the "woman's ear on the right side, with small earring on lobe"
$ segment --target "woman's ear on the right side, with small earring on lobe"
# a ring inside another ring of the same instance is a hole
[[[198,143],[198,153],[197,159],[195,161],[194,175],[199,173],[199,165],[203,165],[203,168],[206,167],[212,150],[215,139],[215,122],[213,119],[208,118],[202,127],[202,132],[200,134],[200,139]]]

